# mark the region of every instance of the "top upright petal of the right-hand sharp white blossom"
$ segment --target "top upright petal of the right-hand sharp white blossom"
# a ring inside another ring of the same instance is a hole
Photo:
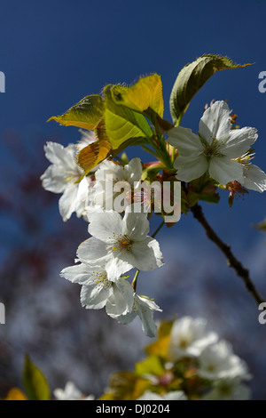
[[[215,101],[200,119],[200,135],[209,143],[227,140],[231,130],[230,109],[225,101]]]

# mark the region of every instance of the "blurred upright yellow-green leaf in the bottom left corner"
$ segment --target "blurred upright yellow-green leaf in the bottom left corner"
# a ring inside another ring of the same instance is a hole
[[[30,400],[50,400],[50,389],[42,372],[25,356],[23,383]]]

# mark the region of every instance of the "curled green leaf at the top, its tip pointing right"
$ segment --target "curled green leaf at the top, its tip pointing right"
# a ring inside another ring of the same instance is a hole
[[[227,68],[242,68],[248,65],[251,64],[238,65],[228,57],[207,54],[184,66],[176,77],[170,95],[170,112],[174,123],[179,125],[193,96],[216,71]]]

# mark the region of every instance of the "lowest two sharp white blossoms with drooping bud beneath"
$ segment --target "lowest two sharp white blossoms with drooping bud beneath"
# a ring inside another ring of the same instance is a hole
[[[106,211],[90,213],[91,237],[77,250],[74,266],[61,272],[73,283],[82,285],[82,306],[106,308],[106,313],[122,324],[137,315],[143,330],[155,336],[153,311],[160,310],[154,301],[134,292],[127,277],[130,269],[153,270],[162,265],[162,254],[156,239],[148,236],[149,221],[145,213]]]

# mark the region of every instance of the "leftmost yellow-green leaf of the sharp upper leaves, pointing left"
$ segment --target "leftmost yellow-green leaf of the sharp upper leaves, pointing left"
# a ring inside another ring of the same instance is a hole
[[[102,97],[99,94],[91,94],[84,97],[63,115],[50,117],[47,122],[55,120],[61,125],[93,130],[103,117],[104,109]]]

